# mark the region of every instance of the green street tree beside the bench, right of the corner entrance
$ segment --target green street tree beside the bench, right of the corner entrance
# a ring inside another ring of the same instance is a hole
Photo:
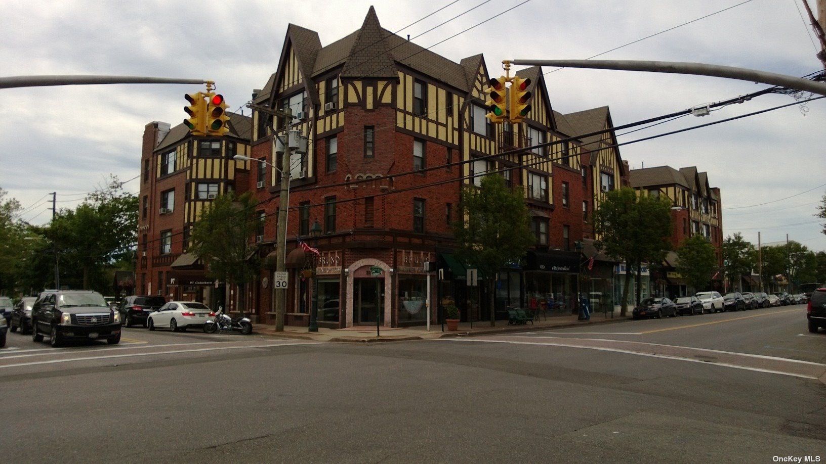
[[[459,219],[453,225],[456,255],[479,270],[487,283],[491,325],[495,325],[495,288],[499,271],[519,263],[536,243],[530,230],[522,191],[511,192],[497,174],[482,178],[480,187],[463,187]]]

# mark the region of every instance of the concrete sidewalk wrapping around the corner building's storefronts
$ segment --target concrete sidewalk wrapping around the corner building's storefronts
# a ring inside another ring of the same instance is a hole
[[[325,329],[319,327],[318,332],[308,332],[306,327],[284,326],[282,332],[277,332],[274,325],[255,324],[253,333],[259,335],[273,335],[290,339],[316,340],[320,342],[342,342],[342,343],[375,343],[375,342],[396,342],[402,340],[425,340],[440,339],[442,337],[466,337],[484,334],[509,334],[513,332],[529,332],[539,329],[558,329],[567,327],[579,327],[592,324],[610,324],[631,320],[630,317],[619,317],[611,315],[596,314],[591,316],[591,320],[577,320],[577,315],[554,315],[534,320],[534,324],[510,325],[506,320],[497,320],[496,326],[491,327],[490,321],[478,321],[471,323],[461,322],[457,331],[449,332],[445,326],[442,331],[441,324],[430,324],[430,330],[425,325],[415,327],[405,327],[391,329],[381,327],[376,330],[375,325],[358,325],[347,329]]]

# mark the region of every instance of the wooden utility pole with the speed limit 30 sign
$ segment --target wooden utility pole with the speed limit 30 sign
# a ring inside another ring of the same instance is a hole
[[[273,164],[281,173],[281,190],[278,198],[278,219],[276,224],[275,236],[275,272],[287,271],[287,211],[290,206],[290,156],[292,150],[289,144],[289,130],[292,123],[292,111],[289,108],[286,111],[273,110],[269,107],[261,107],[259,105],[248,105],[253,110],[260,111],[264,114],[280,117],[283,120],[283,140],[284,154],[281,159],[281,167],[278,168],[278,163]],[[273,127],[273,137],[278,140],[278,131]],[[275,143],[273,142],[273,156],[277,156],[275,152]],[[274,282],[274,279],[273,279]],[[282,332],[284,330],[284,312],[287,307],[287,289],[275,288],[275,331]]]

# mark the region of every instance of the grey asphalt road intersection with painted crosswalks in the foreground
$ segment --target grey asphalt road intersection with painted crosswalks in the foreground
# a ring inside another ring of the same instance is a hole
[[[0,350],[7,462],[826,460],[804,306],[399,343]],[[771,367],[771,368],[769,368]]]

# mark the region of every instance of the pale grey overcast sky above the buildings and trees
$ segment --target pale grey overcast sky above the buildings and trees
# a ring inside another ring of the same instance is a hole
[[[597,54],[597,59],[723,64],[797,77],[822,69],[802,0],[451,2],[0,0],[0,76],[211,79],[232,111],[249,115],[244,105],[252,90],[262,88],[276,71],[289,23],[317,31],[321,44],[329,45],[356,31],[371,4],[382,27],[410,35],[418,45],[433,45],[430,50],[448,59],[484,54],[494,77],[501,74],[502,59],[587,59]],[[814,7],[814,0],[809,2]],[[769,87],[677,74],[544,72],[554,110],[607,105],[615,125]],[[84,192],[101,187],[110,173],[121,181],[135,179],[144,126],[151,121],[178,125],[185,116],[183,94],[201,89],[148,84],[0,89],[6,140],[0,148],[0,187],[26,208],[23,219],[44,224],[50,219],[50,192],[58,193],[59,207],[74,208]],[[721,190],[724,237],[741,232],[757,244],[761,232],[765,244],[786,240],[788,234],[809,249],[826,250],[822,221],[814,216],[826,193],[824,100],[624,144],[620,154],[631,168],[696,166],[707,172],[711,187]],[[620,131],[619,141],[792,102],[794,97],[787,95],[757,97],[710,116],[685,116],[627,135]],[[136,180],[126,187],[138,192]]]

